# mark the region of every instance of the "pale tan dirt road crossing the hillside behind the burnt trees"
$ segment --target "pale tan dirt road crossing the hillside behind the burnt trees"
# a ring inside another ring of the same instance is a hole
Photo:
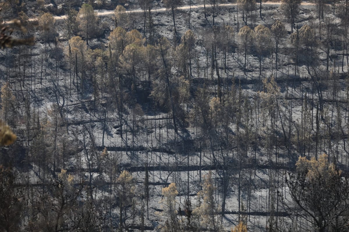
[[[258,3],[257,3],[258,4]],[[218,4],[218,7],[230,7],[230,6],[237,6],[237,3],[223,3],[223,4]],[[263,2],[262,5],[281,5],[281,2]],[[302,2],[300,3],[302,6],[311,6],[314,5],[313,3],[310,2]],[[187,10],[187,9],[195,9],[195,8],[203,8],[204,5],[192,5],[190,6],[183,6],[183,7],[178,7],[179,10]],[[206,5],[209,7],[209,5]],[[170,9],[166,8],[159,8],[159,9],[152,9],[151,11],[153,12],[162,12]],[[143,12],[142,9],[135,9],[135,10],[126,10],[126,14],[129,13],[140,13]],[[114,10],[105,10],[105,11],[96,11],[98,16],[106,16],[106,15],[113,15]],[[62,15],[62,16],[54,16],[54,19],[56,20],[62,20],[67,18],[67,15]],[[37,21],[37,18],[30,18],[29,21]],[[13,20],[7,21],[5,24],[10,24],[13,23]]]

